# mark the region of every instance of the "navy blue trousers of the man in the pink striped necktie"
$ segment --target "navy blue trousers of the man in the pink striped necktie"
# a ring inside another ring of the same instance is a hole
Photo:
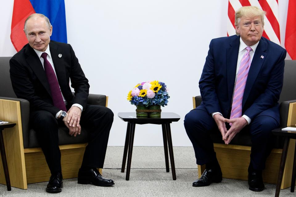
[[[229,129],[229,124],[226,123],[226,125]],[[193,145],[196,163],[203,165],[214,161],[216,159],[216,153],[210,133],[220,133],[220,131],[212,115],[200,109],[191,110],[185,116],[184,127]],[[250,157],[254,169],[263,170],[265,168],[266,158],[272,150],[273,140],[271,131],[278,127],[279,123],[272,117],[258,115],[249,125],[240,131],[249,132],[251,135],[252,148]]]

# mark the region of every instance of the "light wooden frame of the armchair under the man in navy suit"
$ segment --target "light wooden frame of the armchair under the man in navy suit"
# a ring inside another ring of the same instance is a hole
[[[195,106],[195,97],[193,99],[193,109]],[[296,124],[296,103],[290,103],[287,125]],[[293,158],[294,158],[295,140],[290,140],[286,166],[282,179],[281,189],[291,186]],[[250,163],[251,147],[239,145],[226,145],[214,143],[214,149],[219,161],[223,178],[248,180],[248,167]],[[277,183],[278,171],[280,167],[282,149],[273,149],[266,160],[266,168],[263,171],[263,181],[265,183]],[[198,165],[198,177],[205,169],[205,165]]]

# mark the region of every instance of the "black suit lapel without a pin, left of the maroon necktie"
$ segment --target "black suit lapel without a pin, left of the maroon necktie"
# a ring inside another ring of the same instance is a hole
[[[51,95],[47,77],[38,55],[29,45],[27,45],[25,54],[27,55],[27,59],[26,59],[27,63],[29,64],[33,72],[36,74],[41,84],[47,90],[48,94]]]

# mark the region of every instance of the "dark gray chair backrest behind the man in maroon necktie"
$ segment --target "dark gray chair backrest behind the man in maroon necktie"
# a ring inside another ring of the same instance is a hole
[[[0,57],[0,97],[17,98],[12,89],[9,60],[11,57]]]

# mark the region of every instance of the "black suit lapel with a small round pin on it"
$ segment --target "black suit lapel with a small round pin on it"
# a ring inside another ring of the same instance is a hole
[[[64,92],[65,90],[64,87],[67,86],[67,76],[66,76],[66,70],[64,66],[63,53],[59,50],[58,46],[53,42],[50,42],[49,49],[50,49],[52,62],[55,67],[55,73],[56,73],[58,82],[60,84],[60,88],[62,92]],[[62,56],[59,57],[59,54],[61,54]]]

